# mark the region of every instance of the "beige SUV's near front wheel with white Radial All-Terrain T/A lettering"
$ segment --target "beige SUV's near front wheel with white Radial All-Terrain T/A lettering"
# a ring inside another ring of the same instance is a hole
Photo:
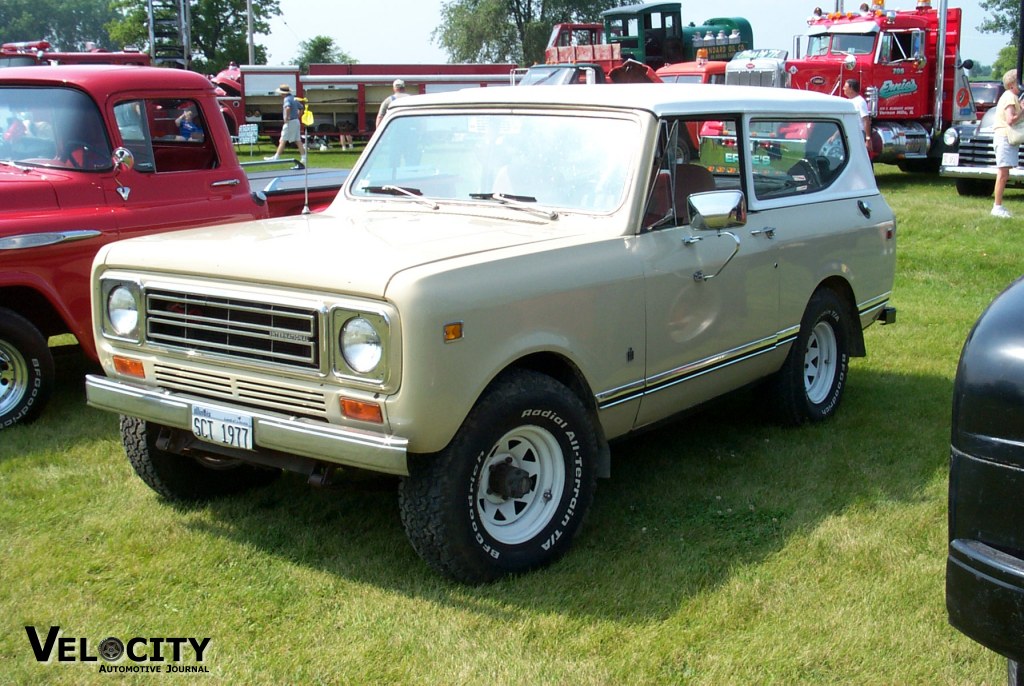
[[[590,507],[596,455],[579,397],[545,375],[509,373],[447,447],[411,459],[406,532],[431,566],[470,584],[549,564]]]

